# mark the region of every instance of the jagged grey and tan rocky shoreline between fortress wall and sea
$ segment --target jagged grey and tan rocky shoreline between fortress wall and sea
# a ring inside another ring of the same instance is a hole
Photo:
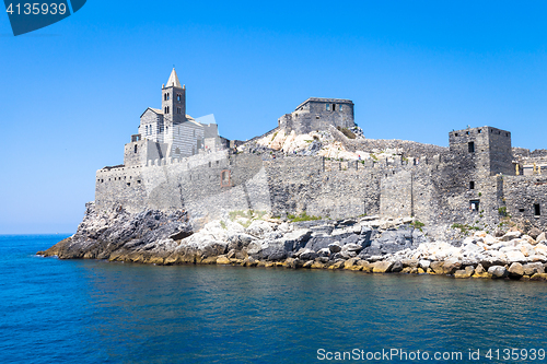
[[[98,213],[90,202],[74,235],[37,254],[153,265],[216,263],[547,280],[547,238],[537,228],[522,232],[512,227],[505,233],[497,231],[497,236],[475,231],[467,237],[440,242],[428,236],[427,226],[412,218],[292,220],[240,211],[195,231],[181,210],[129,214],[118,209]]]

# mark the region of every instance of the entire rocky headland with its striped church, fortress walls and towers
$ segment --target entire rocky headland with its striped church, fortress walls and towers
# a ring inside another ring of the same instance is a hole
[[[78,232],[44,255],[547,279],[547,152],[509,131],[371,140],[351,101],[310,98],[243,143],[185,115],[185,95],[173,71]]]

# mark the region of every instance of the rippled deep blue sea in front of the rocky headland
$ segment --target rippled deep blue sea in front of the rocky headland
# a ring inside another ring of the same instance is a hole
[[[547,361],[545,282],[35,256],[65,237],[0,236],[0,363]]]

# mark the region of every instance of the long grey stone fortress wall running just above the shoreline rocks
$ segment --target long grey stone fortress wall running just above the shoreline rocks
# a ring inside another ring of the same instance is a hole
[[[200,222],[226,211],[254,209],[275,214],[305,211],[333,219],[364,213],[414,215],[428,226],[482,227],[499,223],[500,207],[507,204],[512,215],[529,218],[534,203],[539,203],[542,215],[532,218],[547,225],[547,204],[543,204],[547,176],[489,176],[477,162],[472,155],[447,154],[421,156],[418,164],[397,157],[389,163],[318,156],[263,161],[258,155],[223,151],[154,161],[142,167],[101,169],[96,206],[131,212],[184,208]],[[229,172],[228,184],[221,181],[223,172]],[[478,202],[478,209],[470,209],[472,201]],[[509,208],[513,206],[516,210]]]

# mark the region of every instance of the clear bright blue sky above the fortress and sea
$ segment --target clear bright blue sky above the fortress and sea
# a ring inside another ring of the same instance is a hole
[[[13,36],[0,14],[0,234],[73,233],[175,66],[187,114],[246,140],[309,97],[366,138],[492,126],[547,149],[546,1],[104,1]]]

